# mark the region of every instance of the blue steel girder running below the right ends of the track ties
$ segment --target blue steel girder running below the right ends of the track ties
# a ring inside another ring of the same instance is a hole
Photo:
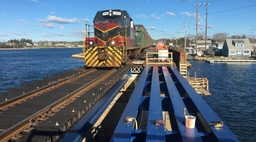
[[[130,77],[129,70],[71,129],[65,132],[60,142],[81,142],[87,131],[97,122],[111,101]]]

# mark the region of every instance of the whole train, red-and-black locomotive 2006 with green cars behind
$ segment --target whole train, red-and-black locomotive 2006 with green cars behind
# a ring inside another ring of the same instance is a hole
[[[85,24],[86,67],[121,67],[155,43],[143,25],[134,25],[125,10],[98,11],[93,24]],[[94,32],[90,32],[92,28]]]

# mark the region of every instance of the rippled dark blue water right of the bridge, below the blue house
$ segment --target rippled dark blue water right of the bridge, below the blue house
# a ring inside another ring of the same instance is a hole
[[[256,141],[256,64],[188,61],[190,76],[209,79],[212,95],[202,96],[240,141]]]

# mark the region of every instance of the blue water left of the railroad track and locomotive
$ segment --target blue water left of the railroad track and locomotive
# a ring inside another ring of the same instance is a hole
[[[82,48],[0,50],[0,92],[84,66],[82,59],[70,58],[79,53]]]

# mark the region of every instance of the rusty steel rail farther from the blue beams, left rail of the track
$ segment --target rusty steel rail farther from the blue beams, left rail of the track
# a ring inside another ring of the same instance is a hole
[[[28,98],[30,98],[32,96],[35,96],[36,94],[44,92],[44,91],[46,91],[46,90],[48,90],[48,89],[50,89],[52,87],[59,86],[59,85],[61,85],[63,83],[66,83],[66,82],[68,82],[70,80],[74,80],[77,77],[80,77],[80,76],[86,75],[88,73],[91,73],[91,72],[93,72],[95,70],[96,69],[93,68],[93,69],[90,69],[90,70],[87,70],[87,71],[83,71],[83,72],[78,73],[76,75],[72,75],[70,77],[67,77],[65,79],[59,80],[59,81],[54,82],[52,84],[43,86],[43,87],[38,88],[36,90],[30,91],[28,93],[22,94],[20,96],[15,97],[15,98],[9,99],[9,100],[4,101],[4,102],[1,102],[0,103],[0,110],[2,110],[3,108],[6,108],[6,107],[10,107],[13,104],[17,104],[18,102],[24,101],[24,100],[26,100],[26,99],[28,99]]]

